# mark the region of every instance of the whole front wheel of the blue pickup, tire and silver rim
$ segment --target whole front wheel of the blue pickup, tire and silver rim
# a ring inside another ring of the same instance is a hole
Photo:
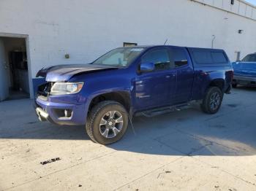
[[[92,141],[113,144],[124,136],[129,117],[124,106],[116,101],[99,102],[89,113],[86,132]]]

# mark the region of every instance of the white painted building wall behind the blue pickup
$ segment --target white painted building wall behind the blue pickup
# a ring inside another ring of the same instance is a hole
[[[232,61],[236,51],[256,52],[255,7],[243,8],[238,0],[233,6],[229,0],[201,1],[209,6],[191,0],[1,0],[0,36],[29,35],[32,78],[43,66],[88,63],[123,42],[168,39],[167,44],[211,47],[215,35],[214,48],[226,50]]]

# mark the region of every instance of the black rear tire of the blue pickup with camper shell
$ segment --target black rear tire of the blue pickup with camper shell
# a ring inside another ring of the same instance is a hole
[[[211,98],[218,96],[216,98],[219,101],[214,101],[214,104]],[[206,90],[206,95],[203,98],[203,103],[201,104],[201,109],[207,114],[216,114],[219,111],[220,106],[222,105],[223,92],[219,87],[209,87]]]

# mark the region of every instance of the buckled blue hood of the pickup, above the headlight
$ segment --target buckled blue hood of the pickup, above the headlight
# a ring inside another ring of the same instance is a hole
[[[48,82],[68,81],[75,75],[87,74],[96,71],[113,70],[118,67],[102,66],[96,64],[71,64],[42,68],[37,72],[37,77],[45,77]]]

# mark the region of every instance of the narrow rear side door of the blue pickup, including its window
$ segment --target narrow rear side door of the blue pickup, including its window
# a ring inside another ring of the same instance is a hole
[[[194,69],[187,50],[183,47],[172,47],[171,55],[174,60],[177,82],[173,104],[188,102],[191,98],[194,82]]]

